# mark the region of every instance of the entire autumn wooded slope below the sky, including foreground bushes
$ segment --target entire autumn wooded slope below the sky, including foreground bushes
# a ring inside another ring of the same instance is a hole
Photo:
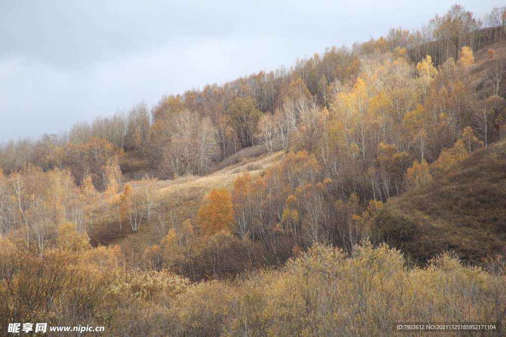
[[[502,174],[505,39],[506,7],[479,20],[455,5],[418,31],[2,145],[2,325],[385,335],[503,320],[503,224],[477,214],[504,198],[486,187]],[[438,255],[452,249],[490,269]]]

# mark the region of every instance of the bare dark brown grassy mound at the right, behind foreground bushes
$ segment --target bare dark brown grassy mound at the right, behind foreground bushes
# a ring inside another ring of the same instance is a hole
[[[425,264],[444,251],[480,263],[506,246],[506,141],[480,149],[442,177],[389,200],[376,240]]]

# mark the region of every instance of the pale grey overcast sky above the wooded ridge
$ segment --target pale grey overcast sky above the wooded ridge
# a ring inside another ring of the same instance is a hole
[[[503,0],[460,1],[483,17]],[[414,29],[425,1],[0,0],[0,142]]]

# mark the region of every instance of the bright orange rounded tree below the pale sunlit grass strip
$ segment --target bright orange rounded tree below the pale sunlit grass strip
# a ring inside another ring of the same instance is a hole
[[[234,210],[228,189],[213,188],[202,198],[197,223],[204,235],[212,235],[221,230],[232,231]]]

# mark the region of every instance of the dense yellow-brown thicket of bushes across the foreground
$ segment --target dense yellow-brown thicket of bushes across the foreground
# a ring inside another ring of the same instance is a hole
[[[118,247],[61,248],[40,259],[6,239],[0,244],[3,327],[29,321],[104,326],[88,334],[110,336],[385,336],[397,335],[399,322],[482,322],[498,331],[506,306],[502,259],[490,260],[486,272],[446,254],[419,269],[386,246],[356,247],[347,256],[315,245],[279,271],[190,284],[126,267]]]

